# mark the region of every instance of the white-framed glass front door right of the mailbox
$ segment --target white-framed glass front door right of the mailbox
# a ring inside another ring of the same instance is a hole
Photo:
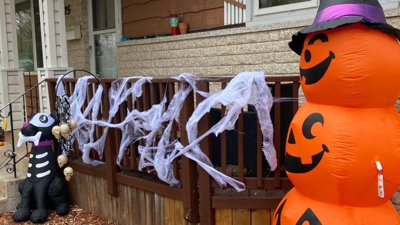
[[[118,3],[114,0],[88,1],[90,70],[97,77],[117,77]]]

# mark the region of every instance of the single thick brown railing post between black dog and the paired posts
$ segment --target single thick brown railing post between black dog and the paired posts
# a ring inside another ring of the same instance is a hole
[[[108,98],[108,94],[111,88],[111,83],[102,83],[102,85],[104,88],[103,118],[108,119],[109,109],[110,109],[110,101]],[[114,197],[118,197],[118,183],[116,181],[116,173],[118,172],[118,168],[115,164],[115,149],[119,149],[116,141],[117,138],[119,139],[116,128],[109,128],[106,141],[104,143],[104,155],[106,161],[106,179],[107,179],[108,194]]]

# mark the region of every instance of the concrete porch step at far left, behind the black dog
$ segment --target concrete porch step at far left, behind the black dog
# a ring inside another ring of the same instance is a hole
[[[17,178],[14,178],[14,173],[7,173],[5,168],[0,170],[0,213],[15,210],[21,200],[18,185],[26,178],[26,173],[17,171],[16,175]]]

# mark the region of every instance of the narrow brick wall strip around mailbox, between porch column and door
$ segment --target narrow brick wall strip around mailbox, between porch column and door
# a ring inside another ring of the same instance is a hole
[[[90,70],[87,0],[65,0],[64,5],[71,10],[65,15],[65,26],[81,25],[82,34],[81,39],[67,40],[68,66]]]

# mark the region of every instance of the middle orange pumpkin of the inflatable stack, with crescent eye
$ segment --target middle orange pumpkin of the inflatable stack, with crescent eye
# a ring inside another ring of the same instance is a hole
[[[400,180],[400,119],[394,106],[345,108],[305,103],[289,127],[286,172],[315,200],[372,207],[386,202]],[[377,195],[377,168],[385,197]]]

